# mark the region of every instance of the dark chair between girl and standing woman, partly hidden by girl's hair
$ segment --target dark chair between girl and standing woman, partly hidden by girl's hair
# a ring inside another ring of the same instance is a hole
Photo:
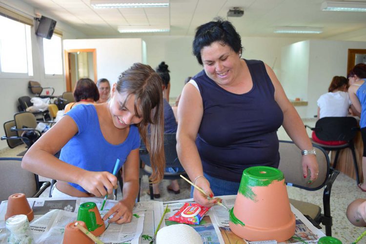
[[[181,162],[179,162],[178,155],[177,155],[177,140],[176,140],[176,133],[165,133],[164,134],[164,153],[165,153],[165,167],[182,167]],[[145,167],[142,168],[144,174],[150,176],[152,174],[152,168],[150,164],[150,155],[145,147],[144,144],[140,146],[140,165],[142,162],[145,163]],[[187,176],[185,171],[177,172],[177,173],[170,173],[164,172],[164,180],[178,180],[181,179],[180,175]],[[140,178],[141,181],[141,178]],[[141,183],[141,182],[140,182]],[[149,182],[149,189],[150,189],[150,199],[154,200],[154,192],[152,188],[152,184]],[[140,192],[139,192],[140,197]]]

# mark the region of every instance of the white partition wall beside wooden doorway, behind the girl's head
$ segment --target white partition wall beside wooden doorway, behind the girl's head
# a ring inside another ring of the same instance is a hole
[[[97,76],[111,85],[122,71],[135,62],[142,62],[142,40],[135,39],[78,39],[63,40],[63,49],[96,49]]]

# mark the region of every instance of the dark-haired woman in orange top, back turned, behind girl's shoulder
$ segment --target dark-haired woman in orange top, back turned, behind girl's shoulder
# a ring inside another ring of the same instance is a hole
[[[89,78],[80,79],[75,84],[74,99],[76,102],[69,102],[66,104],[64,113],[67,113],[76,105],[97,102],[99,100],[97,85]]]

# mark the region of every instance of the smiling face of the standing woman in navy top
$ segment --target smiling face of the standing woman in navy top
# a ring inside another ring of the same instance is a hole
[[[215,41],[201,50],[203,68],[206,75],[219,85],[231,85],[240,74],[239,53],[229,45]]]

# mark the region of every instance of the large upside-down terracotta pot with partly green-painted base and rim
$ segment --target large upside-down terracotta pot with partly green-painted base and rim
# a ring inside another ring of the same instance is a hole
[[[229,226],[247,241],[284,242],[294,235],[295,215],[279,169],[255,166],[243,171]]]

